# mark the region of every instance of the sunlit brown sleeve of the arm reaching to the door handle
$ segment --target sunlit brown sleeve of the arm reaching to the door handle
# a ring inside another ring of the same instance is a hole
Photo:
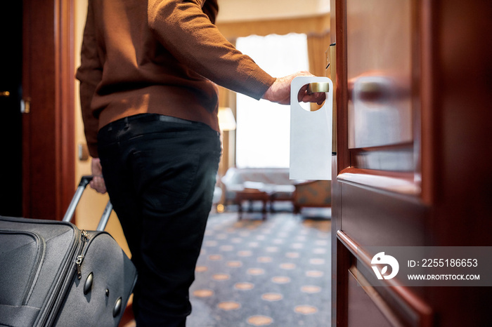
[[[206,1],[149,0],[149,27],[160,43],[193,71],[220,86],[260,99],[275,79],[226,40],[211,21],[216,6]]]

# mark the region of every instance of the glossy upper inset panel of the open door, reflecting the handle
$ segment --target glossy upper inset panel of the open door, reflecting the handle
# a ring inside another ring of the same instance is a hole
[[[410,2],[347,1],[350,149],[413,141]]]

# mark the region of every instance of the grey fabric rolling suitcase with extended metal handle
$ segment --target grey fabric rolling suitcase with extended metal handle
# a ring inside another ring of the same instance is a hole
[[[91,176],[77,187],[63,221],[0,216],[0,326],[117,326],[136,268],[107,232],[69,220]]]

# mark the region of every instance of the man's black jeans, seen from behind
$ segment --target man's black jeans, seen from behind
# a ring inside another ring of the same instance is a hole
[[[137,326],[185,326],[212,207],[219,133],[205,124],[138,114],[101,128],[98,152],[138,270]]]

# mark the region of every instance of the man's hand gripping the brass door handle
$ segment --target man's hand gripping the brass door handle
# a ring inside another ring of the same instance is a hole
[[[278,102],[280,105],[290,105],[290,84],[292,79],[297,76],[313,76],[310,72],[297,72],[288,76],[280,77],[266,90],[263,98],[271,102]],[[299,102],[316,102],[321,105],[325,101],[325,93],[307,93],[308,86],[305,85],[299,90],[297,100]]]

